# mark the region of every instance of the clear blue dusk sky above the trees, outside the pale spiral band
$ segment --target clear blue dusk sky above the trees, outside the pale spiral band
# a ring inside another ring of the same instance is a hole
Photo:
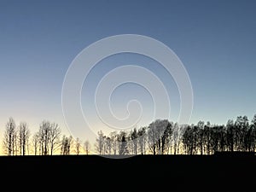
[[[225,124],[238,115],[252,119],[256,113],[255,9],[253,0],[0,0],[0,134],[9,117],[16,124],[26,121],[32,131],[46,119],[69,134],[74,128],[67,127],[61,108],[67,69],[84,48],[119,34],[157,39],[183,62],[194,94],[190,124],[201,119]],[[160,78],[171,98],[170,120],[176,121],[180,101],[175,80],[157,61],[125,53],[100,61],[84,80],[81,103],[94,131],[104,129],[96,117],[96,86],[106,73],[123,65],[145,67]],[[165,118],[165,114],[154,117],[154,98],[138,84],[122,84],[113,92],[113,113],[125,118],[126,104],[132,99],[143,107],[137,126]]]

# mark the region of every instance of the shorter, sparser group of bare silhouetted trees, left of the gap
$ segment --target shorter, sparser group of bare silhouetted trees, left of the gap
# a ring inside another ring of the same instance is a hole
[[[61,136],[61,128],[56,123],[44,120],[33,135],[26,122],[15,124],[9,118],[3,133],[3,153],[7,155],[52,155],[90,153],[90,143],[84,144],[79,138]]]

